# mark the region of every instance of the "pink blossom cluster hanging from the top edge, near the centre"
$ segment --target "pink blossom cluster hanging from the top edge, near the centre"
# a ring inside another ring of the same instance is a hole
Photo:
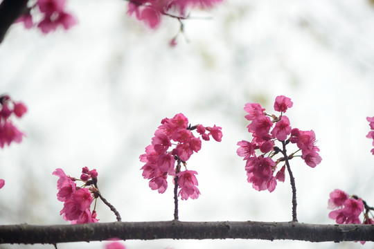
[[[129,15],[144,21],[150,28],[157,28],[163,15],[184,19],[187,17],[188,8],[210,8],[222,0],[130,0]]]

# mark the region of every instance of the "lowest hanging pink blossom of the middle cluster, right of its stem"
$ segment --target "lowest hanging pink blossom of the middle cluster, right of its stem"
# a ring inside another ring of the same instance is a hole
[[[182,200],[190,199],[197,199],[199,197],[199,190],[197,189],[197,179],[195,174],[197,172],[193,170],[185,170],[183,172],[179,172],[177,176],[178,178],[178,187],[180,188],[178,196],[181,196]]]

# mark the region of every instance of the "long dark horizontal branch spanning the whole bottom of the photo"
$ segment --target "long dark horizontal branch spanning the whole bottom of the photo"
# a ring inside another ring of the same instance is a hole
[[[119,239],[292,239],[374,241],[374,225],[290,222],[114,222],[78,225],[1,225],[0,243],[65,243]]]

